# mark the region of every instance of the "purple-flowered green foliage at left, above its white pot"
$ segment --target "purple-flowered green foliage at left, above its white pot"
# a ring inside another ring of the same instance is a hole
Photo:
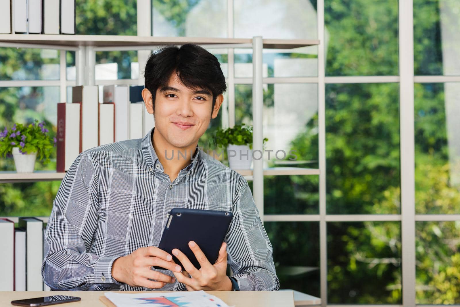
[[[18,147],[20,153],[37,153],[43,164],[48,164],[53,147],[56,147],[56,138],[48,136],[48,129],[44,125],[45,122],[39,123],[35,119],[35,123],[29,125],[16,123],[11,130],[5,127],[0,132],[0,155],[5,158],[14,147]]]

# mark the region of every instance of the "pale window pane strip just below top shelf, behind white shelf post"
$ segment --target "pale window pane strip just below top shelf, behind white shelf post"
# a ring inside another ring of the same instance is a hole
[[[235,77],[253,77],[253,50],[235,49]],[[318,47],[264,49],[263,77],[316,77]]]

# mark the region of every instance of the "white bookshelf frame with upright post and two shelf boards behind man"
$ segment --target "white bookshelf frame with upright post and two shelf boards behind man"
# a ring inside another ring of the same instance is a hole
[[[144,33],[138,33],[144,34]],[[76,85],[95,85],[97,51],[139,51],[149,53],[160,45],[183,45],[195,43],[205,48],[252,48],[253,50],[253,149],[262,150],[263,113],[263,50],[293,49],[319,45],[319,40],[273,40],[261,36],[250,38],[207,37],[155,37],[148,35],[46,35],[46,34],[0,34],[0,47],[46,48],[75,51]],[[148,56],[148,55],[147,55]],[[142,58],[142,59],[141,59]],[[146,54],[139,57],[139,63]],[[141,64],[140,64],[141,65]],[[65,70],[64,70],[65,72]],[[234,82],[234,81],[230,81]],[[238,170],[237,170],[238,171]],[[253,161],[252,170],[239,170],[242,176],[253,180],[253,198],[260,215],[264,214],[264,176],[319,175],[319,169],[298,167],[264,168],[262,160]],[[0,183],[62,180],[65,173],[36,171],[29,174],[0,172]]]

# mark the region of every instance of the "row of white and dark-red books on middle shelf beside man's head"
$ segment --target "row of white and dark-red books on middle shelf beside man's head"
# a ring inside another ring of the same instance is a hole
[[[68,171],[79,153],[100,145],[144,137],[154,126],[144,106],[143,85],[74,86],[72,103],[57,104],[56,171]]]

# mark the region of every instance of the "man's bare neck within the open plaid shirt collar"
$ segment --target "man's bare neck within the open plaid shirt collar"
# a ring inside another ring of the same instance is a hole
[[[164,172],[169,175],[171,182],[173,182],[177,178],[179,171],[191,163],[191,156],[195,153],[197,143],[187,148],[177,148],[168,143],[154,129],[152,145],[161,165],[163,165]]]

